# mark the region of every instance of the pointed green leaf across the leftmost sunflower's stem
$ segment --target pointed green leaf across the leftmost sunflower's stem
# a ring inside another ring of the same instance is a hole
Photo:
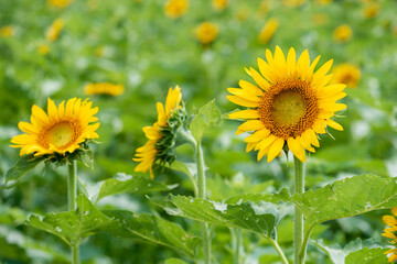
[[[76,200],[75,211],[49,213],[43,219],[32,215],[28,224],[57,235],[69,245],[110,228],[114,220],[95,208],[87,197],[79,195]]]

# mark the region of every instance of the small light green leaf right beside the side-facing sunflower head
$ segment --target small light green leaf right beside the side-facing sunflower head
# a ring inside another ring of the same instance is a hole
[[[215,105],[215,99],[198,109],[190,125],[194,139],[200,142],[205,131],[215,128],[221,122],[221,111]]]

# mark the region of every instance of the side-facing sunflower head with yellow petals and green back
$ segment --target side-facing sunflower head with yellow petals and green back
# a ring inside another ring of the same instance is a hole
[[[142,130],[148,142],[137,148],[132,158],[139,162],[136,172],[150,172],[153,178],[153,165],[157,161],[160,165],[171,164],[175,160],[176,133],[180,129],[187,125],[187,113],[182,103],[182,92],[179,86],[175,89],[170,88],[165,106],[157,103],[158,120],[151,127],[144,127]]]

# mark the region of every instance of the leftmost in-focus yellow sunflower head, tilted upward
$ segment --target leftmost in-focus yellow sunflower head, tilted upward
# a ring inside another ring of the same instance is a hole
[[[97,139],[95,132],[99,122],[94,117],[98,108],[86,99],[69,99],[56,108],[49,98],[47,113],[37,106],[32,107],[29,122],[19,122],[19,129],[25,134],[12,138],[12,147],[21,147],[20,155],[34,153],[34,156],[58,153],[65,155],[79,148],[88,139]],[[93,122],[96,122],[92,124]]]

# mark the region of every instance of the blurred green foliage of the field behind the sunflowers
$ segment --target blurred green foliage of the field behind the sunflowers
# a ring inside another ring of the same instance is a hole
[[[267,1],[271,2],[271,1]],[[311,154],[307,165],[307,188],[320,187],[339,177],[375,173],[382,177],[397,175],[397,2],[379,1],[380,13],[366,20],[364,3],[334,1],[321,6],[308,1],[300,8],[286,8],[272,1],[267,13],[261,1],[232,0],[224,11],[214,11],[211,1],[191,1],[187,13],[170,20],[163,13],[163,1],[75,1],[65,9],[53,9],[45,1],[1,1],[0,28],[12,24],[15,34],[0,37],[0,176],[15,163],[19,152],[10,148],[10,139],[20,133],[19,121],[29,121],[33,103],[45,107],[46,98],[57,103],[73,97],[85,98],[87,82],[110,81],[126,86],[116,98],[92,97],[99,107],[98,133],[101,144],[93,145],[95,168],[79,165],[79,177],[87,184],[112,177],[118,172],[133,173],[135,150],[146,142],[141,128],[157,119],[155,102],[164,101],[169,87],[180,85],[183,100],[192,113],[215,98],[223,113],[236,108],[226,99],[226,88],[239,79],[250,80],[245,66],[256,66],[266,48],[279,45],[283,51],[293,46],[297,53],[309,50],[311,58],[322,55],[321,63],[334,58],[334,65],[353,63],[360,66],[362,79],[356,89],[347,89],[343,102],[347,110],[339,122],[344,132],[321,136],[321,147]],[[94,7],[94,8],[93,8]],[[245,12],[240,21],[237,14]],[[315,14],[326,15],[318,25]],[[268,18],[280,26],[267,45],[259,44],[258,33]],[[45,32],[56,19],[65,28],[57,41],[50,44],[46,56],[37,52],[45,43]],[[203,21],[217,23],[219,35],[204,48],[194,38],[194,29]],[[353,30],[353,37],[336,44],[333,30],[343,24]],[[104,47],[103,57],[95,55]],[[256,162],[255,153],[245,153],[243,136],[234,135],[238,122],[224,120],[204,139],[208,166],[208,198],[223,200],[233,195],[272,191],[291,187],[292,164],[285,157],[271,164]],[[189,147],[179,150],[180,161],[193,161]],[[291,158],[290,158],[291,160]],[[66,169],[43,166],[30,173],[19,186],[0,193],[0,260],[9,263],[60,263],[67,260],[68,249],[57,238],[24,224],[30,212],[44,215],[66,210]],[[147,175],[149,177],[149,175]],[[171,170],[155,172],[155,179],[179,184],[172,194],[192,195],[189,178]],[[151,194],[164,196],[167,194]],[[153,212],[154,207],[140,195],[120,195],[104,199],[101,209],[126,209]],[[196,223],[170,217],[165,219],[200,234]],[[325,244],[346,244],[356,238],[373,239],[387,244],[380,237],[382,216],[375,211],[361,217],[326,222],[313,239]],[[279,243],[291,249],[291,218],[279,228]],[[232,238],[228,229],[218,228],[213,239],[213,254],[218,263],[232,262]],[[21,246],[21,241],[28,245]],[[276,251],[264,240],[244,233],[246,263],[278,262]],[[291,252],[288,252],[291,253]],[[84,263],[163,263],[182,257],[174,251],[132,239],[98,234],[82,245]],[[56,257],[56,258],[55,258]],[[65,258],[66,257],[66,258]],[[187,260],[186,260],[187,261]],[[308,263],[328,263],[325,254],[309,246]]]

